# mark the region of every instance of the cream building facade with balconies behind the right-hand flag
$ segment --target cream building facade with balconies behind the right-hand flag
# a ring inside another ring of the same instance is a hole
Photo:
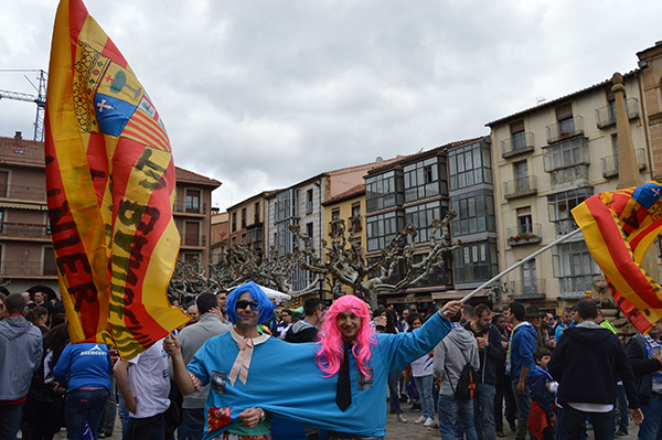
[[[509,268],[575,230],[572,210],[617,189],[619,160],[611,81],[489,122],[499,260]],[[636,73],[624,75],[626,107],[641,180],[650,178]],[[558,307],[583,298],[600,275],[581,234],[502,279],[501,300]]]

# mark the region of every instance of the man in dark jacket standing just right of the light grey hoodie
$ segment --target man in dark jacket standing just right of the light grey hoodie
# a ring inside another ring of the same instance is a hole
[[[501,345],[501,334],[492,322],[492,311],[485,304],[478,304],[474,318],[465,329],[478,342],[480,368],[477,372],[477,396],[473,399],[473,423],[480,440],[494,440],[494,395],[496,394],[496,366],[505,362],[505,350]]]

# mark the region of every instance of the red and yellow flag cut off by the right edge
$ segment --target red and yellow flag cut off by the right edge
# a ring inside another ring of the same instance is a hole
[[[647,182],[596,194],[573,210],[616,303],[642,333],[662,318],[662,288],[641,267],[662,232],[661,195],[660,182]]]

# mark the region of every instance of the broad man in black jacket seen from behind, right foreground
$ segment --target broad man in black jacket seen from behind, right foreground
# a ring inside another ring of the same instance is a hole
[[[564,332],[548,364],[549,374],[559,384],[557,401],[563,407],[557,438],[579,438],[590,415],[596,440],[612,439],[619,376],[628,395],[630,417],[637,425],[643,419],[634,375],[618,336],[594,322],[598,315],[596,303],[583,299],[577,310],[579,323]]]

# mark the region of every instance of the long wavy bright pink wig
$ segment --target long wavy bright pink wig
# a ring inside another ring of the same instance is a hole
[[[317,356],[316,364],[324,373],[324,377],[331,377],[338,373],[344,356],[344,343],[342,334],[338,328],[338,316],[341,313],[350,311],[361,318],[361,326],[354,339],[355,343],[352,346],[352,353],[359,365],[359,369],[364,376],[371,376],[367,363],[370,361],[370,348],[376,344],[375,331],[370,324],[370,312],[363,300],[345,294],[339,298],[331,305],[324,315],[322,323],[322,334],[320,342],[314,346]]]

